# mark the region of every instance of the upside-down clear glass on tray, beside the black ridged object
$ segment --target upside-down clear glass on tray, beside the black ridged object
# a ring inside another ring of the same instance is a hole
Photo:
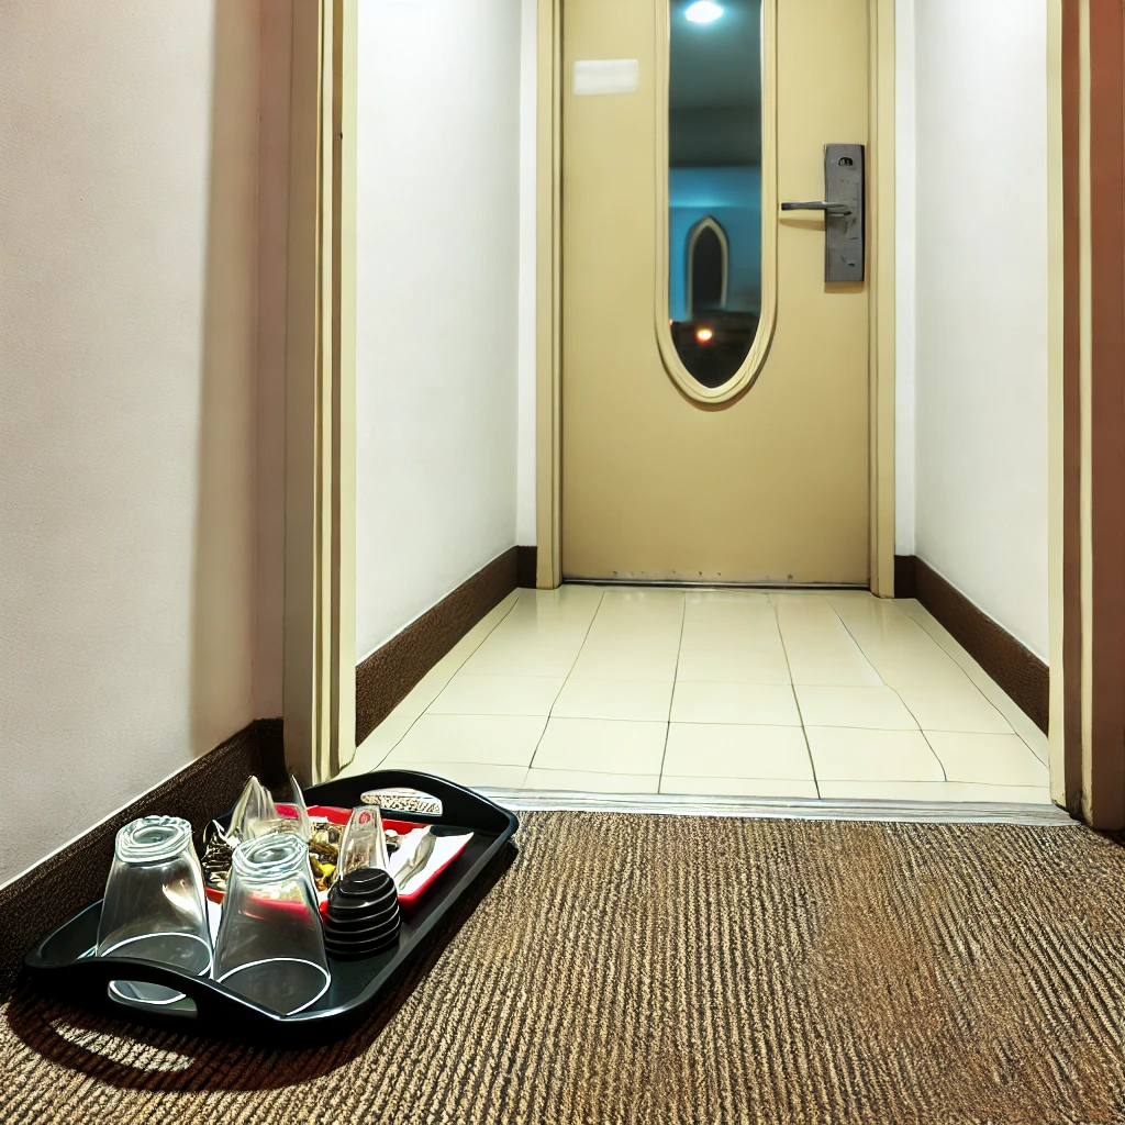
[[[291,1016],[331,981],[308,845],[288,832],[234,849],[215,939],[215,980],[254,1004]]]

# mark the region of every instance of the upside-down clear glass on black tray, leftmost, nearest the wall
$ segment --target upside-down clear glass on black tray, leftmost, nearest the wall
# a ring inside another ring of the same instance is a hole
[[[210,972],[204,879],[187,820],[142,817],[118,831],[97,953],[152,961],[190,976]],[[112,981],[109,988],[119,999],[140,1004],[183,998],[182,992],[142,981]]]

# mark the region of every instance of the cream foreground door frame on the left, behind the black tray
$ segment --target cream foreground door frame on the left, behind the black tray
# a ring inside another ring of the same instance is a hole
[[[304,784],[356,754],[358,4],[292,4],[282,717]]]

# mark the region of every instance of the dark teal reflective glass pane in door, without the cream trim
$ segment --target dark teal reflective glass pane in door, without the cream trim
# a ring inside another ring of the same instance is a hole
[[[669,2],[668,315],[684,367],[718,387],[762,313],[762,0]]]

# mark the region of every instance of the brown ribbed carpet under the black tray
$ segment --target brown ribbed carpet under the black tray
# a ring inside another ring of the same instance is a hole
[[[267,1052],[21,992],[0,1120],[1125,1120],[1125,848],[1077,827],[549,812],[413,990]]]

